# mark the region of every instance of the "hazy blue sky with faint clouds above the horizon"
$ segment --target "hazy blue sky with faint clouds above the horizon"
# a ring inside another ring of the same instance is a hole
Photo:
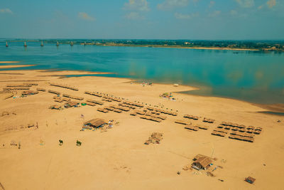
[[[0,38],[284,40],[284,0],[1,0]]]

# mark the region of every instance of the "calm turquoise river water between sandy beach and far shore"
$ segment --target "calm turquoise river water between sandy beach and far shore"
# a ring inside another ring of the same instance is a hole
[[[36,64],[28,69],[90,70],[110,76],[194,85],[195,95],[284,103],[284,53],[0,43],[0,60]],[[1,64],[5,65],[5,64]],[[16,68],[19,69],[19,68]],[[13,70],[13,69],[7,69]]]

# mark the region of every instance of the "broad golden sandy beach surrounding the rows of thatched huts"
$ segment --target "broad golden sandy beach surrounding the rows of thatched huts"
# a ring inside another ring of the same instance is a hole
[[[142,85],[124,78],[62,77],[89,74],[83,71],[2,70],[0,74],[1,90],[7,85],[31,83],[37,85],[31,85],[30,90],[46,90],[26,97],[21,97],[23,90],[0,93],[0,183],[5,189],[283,189],[284,117],[260,113],[267,111],[266,107],[178,93],[195,89],[190,86]],[[50,83],[70,85],[78,91]],[[79,102],[102,101],[102,97],[84,93],[99,92],[178,115],[165,115],[162,122],[153,122],[130,112],[97,111],[98,107],[119,104],[114,101],[51,110],[50,105],[63,106],[65,102],[55,102],[55,94],[48,90],[84,97]],[[175,100],[160,97],[163,93],[172,93]],[[13,97],[7,98],[9,94]],[[186,114],[199,120],[184,118]],[[202,122],[204,117],[214,123]],[[94,118],[114,120],[114,125],[107,130],[81,131],[84,122]],[[208,130],[186,130],[176,120]],[[255,135],[254,142],[229,139],[229,134],[212,135],[222,122],[263,130]],[[144,144],[153,132],[163,133],[160,144]],[[62,146],[59,139],[64,142]],[[80,147],[77,140],[82,142]],[[214,176],[182,169],[197,154],[216,158],[211,166],[217,166],[212,171]],[[256,179],[254,184],[244,181],[247,176]]]

